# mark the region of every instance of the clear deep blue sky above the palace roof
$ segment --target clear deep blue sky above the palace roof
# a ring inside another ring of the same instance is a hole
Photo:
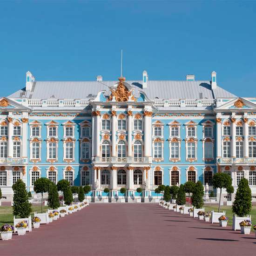
[[[256,97],[256,1],[0,1],[1,96],[38,81],[209,80]]]

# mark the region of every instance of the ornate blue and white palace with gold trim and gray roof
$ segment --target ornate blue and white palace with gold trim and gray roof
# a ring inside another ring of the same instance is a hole
[[[36,179],[90,185],[94,202],[106,195],[128,202],[143,190],[198,181],[212,188],[216,172],[235,190],[249,180],[256,201],[256,98],[241,98],[210,81],[36,81],[0,99],[0,188],[11,201],[17,179],[33,191]],[[217,191],[218,193],[218,191]],[[234,195],[223,194],[223,200]]]

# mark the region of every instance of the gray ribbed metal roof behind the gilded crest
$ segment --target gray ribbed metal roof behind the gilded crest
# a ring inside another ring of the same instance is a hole
[[[8,98],[26,97],[30,99],[86,99],[97,95],[99,91],[109,91],[117,81],[35,81],[31,92],[25,88],[11,94]],[[209,81],[148,81],[147,88],[142,89],[142,81],[126,81],[135,88],[135,95],[142,90],[153,100],[159,99],[199,99],[233,98],[236,95],[217,86],[211,90]]]

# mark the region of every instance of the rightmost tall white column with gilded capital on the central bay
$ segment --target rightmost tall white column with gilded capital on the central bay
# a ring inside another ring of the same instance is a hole
[[[152,154],[152,112],[144,111],[144,155]]]

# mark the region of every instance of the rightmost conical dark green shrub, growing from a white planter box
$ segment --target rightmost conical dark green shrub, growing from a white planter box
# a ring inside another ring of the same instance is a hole
[[[235,201],[232,205],[232,211],[237,216],[243,217],[249,215],[251,206],[251,189],[249,188],[248,180],[243,178],[238,184]]]

